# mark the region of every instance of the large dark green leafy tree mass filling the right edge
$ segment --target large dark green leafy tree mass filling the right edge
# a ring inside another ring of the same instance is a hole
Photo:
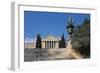
[[[85,19],[82,25],[77,26],[71,36],[73,49],[84,57],[90,57],[90,20]]]

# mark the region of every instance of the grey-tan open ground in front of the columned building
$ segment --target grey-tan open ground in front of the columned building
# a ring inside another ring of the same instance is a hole
[[[73,59],[67,55],[66,49],[24,49],[24,61],[47,61]]]

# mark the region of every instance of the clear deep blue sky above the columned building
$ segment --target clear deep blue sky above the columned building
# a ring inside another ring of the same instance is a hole
[[[74,26],[81,25],[85,18],[90,19],[90,14],[24,11],[24,39],[32,42],[39,33],[42,38],[52,35],[67,39],[66,29],[68,18],[72,17]]]

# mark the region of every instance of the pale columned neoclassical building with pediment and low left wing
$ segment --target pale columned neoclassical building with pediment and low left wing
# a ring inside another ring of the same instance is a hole
[[[45,38],[41,39],[42,48],[59,48],[59,41],[61,38],[48,35]],[[36,42],[25,43],[24,48],[35,48]]]

